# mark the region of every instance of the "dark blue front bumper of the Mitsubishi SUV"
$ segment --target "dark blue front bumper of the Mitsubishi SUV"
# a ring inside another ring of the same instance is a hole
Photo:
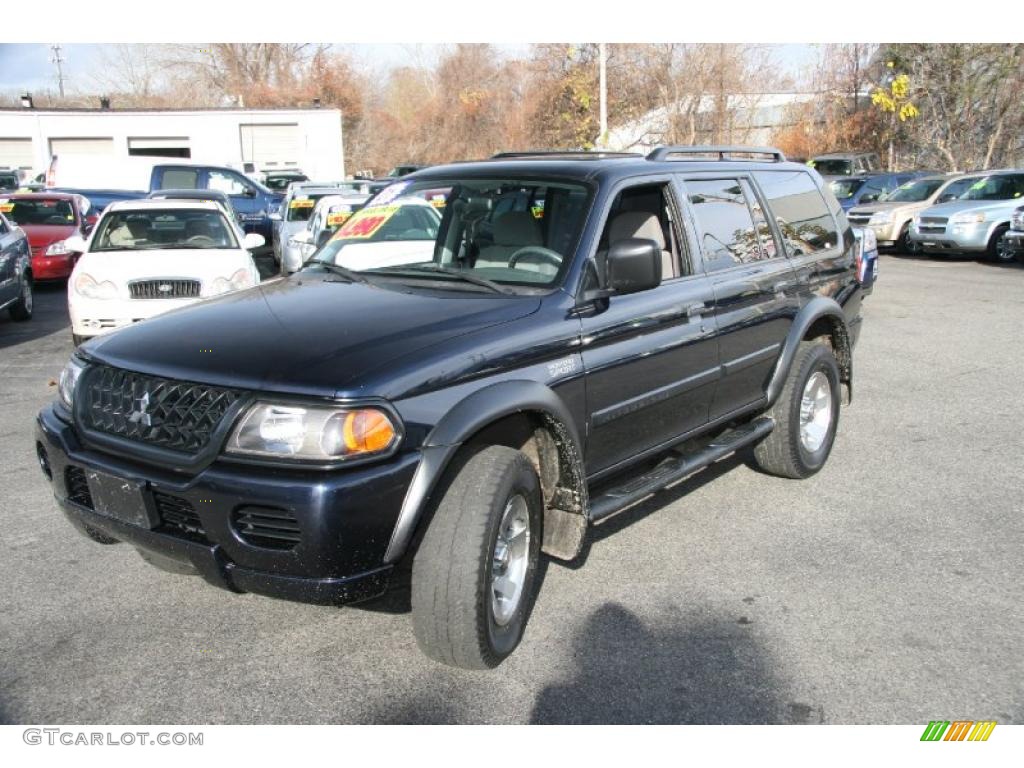
[[[391,566],[384,554],[419,463],[415,452],[334,472],[217,461],[183,476],[90,449],[52,406],[39,414],[36,440],[57,504],[79,530],[99,530],[176,561],[222,589],[317,604],[354,602],[386,590]],[[152,524],[98,512],[91,495],[83,498],[75,484],[80,470],[137,483],[144,506],[139,514]],[[175,515],[191,510],[194,529],[178,524],[167,499],[174,500]],[[254,545],[239,524],[253,509],[290,515],[298,543],[288,549]]]

